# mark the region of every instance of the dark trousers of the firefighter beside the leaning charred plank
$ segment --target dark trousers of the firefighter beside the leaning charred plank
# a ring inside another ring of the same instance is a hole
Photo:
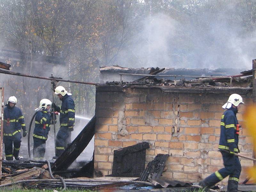
[[[61,126],[56,136],[56,157],[60,157],[61,153],[71,143],[71,131],[68,126]]]

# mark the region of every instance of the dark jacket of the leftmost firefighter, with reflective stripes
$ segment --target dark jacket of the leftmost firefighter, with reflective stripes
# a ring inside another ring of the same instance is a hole
[[[14,106],[9,107],[8,104],[4,108],[4,136],[13,136],[20,132],[20,129],[26,130],[24,116],[20,108]]]

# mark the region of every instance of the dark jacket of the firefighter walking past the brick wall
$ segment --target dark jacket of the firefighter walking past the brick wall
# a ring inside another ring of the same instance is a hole
[[[220,150],[228,150],[231,153],[239,153],[238,149],[238,131],[236,125],[238,124],[236,118],[237,109],[231,107],[226,110],[220,122]]]

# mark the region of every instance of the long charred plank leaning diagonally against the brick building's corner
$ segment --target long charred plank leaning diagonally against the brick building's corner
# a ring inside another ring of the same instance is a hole
[[[74,139],[68,148],[53,163],[52,171],[65,170],[76,160],[76,158],[92,140],[95,129],[95,121],[96,117],[94,116],[84,127],[84,129],[77,135],[76,139]]]

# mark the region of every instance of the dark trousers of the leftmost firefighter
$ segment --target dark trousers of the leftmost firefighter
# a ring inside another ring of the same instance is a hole
[[[12,135],[12,136],[4,136],[4,150],[5,150],[5,157],[6,160],[12,161],[13,156],[15,159],[19,158],[20,152],[20,143],[21,143],[21,134],[20,132]],[[12,151],[12,143],[13,143],[13,151]]]

